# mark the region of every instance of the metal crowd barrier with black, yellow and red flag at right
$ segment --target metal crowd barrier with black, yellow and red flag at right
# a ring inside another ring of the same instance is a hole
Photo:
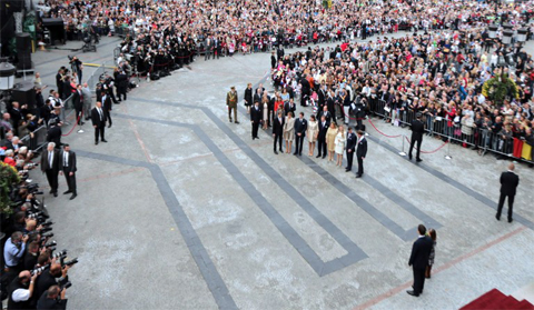
[[[408,107],[404,111],[390,109],[384,100],[373,98],[369,98],[368,111],[400,127],[409,126],[416,114]],[[481,154],[490,151],[497,156],[534,163],[534,158],[532,158],[533,146],[528,146],[524,140],[476,127],[463,132],[462,128],[465,129],[465,124],[442,117],[423,116],[423,122],[426,124],[425,131],[431,137],[438,136],[444,141],[479,149]]]

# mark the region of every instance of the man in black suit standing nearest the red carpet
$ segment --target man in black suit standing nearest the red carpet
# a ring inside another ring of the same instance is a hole
[[[417,231],[419,232],[419,238],[417,238],[412,247],[412,254],[408,261],[408,266],[414,270],[414,290],[407,291],[408,294],[415,297],[423,293],[425,287],[425,270],[428,266],[428,258],[434,244],[431,237],[426,236],[426,227],[424,224],[419,224]]]

